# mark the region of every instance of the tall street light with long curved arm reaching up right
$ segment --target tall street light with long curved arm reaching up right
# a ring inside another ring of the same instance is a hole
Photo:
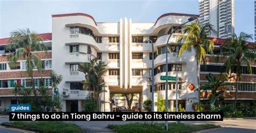
[[[175,29],[173,29],[173,31],[171,32],[169,38],[167,39],[167,43],[166,43],[166,47],[165,47],[165,111],[167,112],[168,111],[168,59],[167,59],[167,49],[168,49],[168,43],[169,43],[169,40],[173,34],[174,31],[176,31],[176,29],[178,29],[179,27],[185,25],[186,23],[188,22],[192,22],[193,20],[197,19],[196,16],[191,16],[190,18],[187,19],[187,22],[177,26]],[[165,121],[165,130],[167,131],[168,130],[168,122]]]

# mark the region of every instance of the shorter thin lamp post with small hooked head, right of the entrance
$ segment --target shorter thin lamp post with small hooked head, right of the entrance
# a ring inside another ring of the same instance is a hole
[[[152,46],[152,103],[151,103],[151,112],[154,111],[154,46],[153,46],[153,41],[152,40],[146,40],[145,43],[151,43]],[[153,124],[153,122],[152,122]]]

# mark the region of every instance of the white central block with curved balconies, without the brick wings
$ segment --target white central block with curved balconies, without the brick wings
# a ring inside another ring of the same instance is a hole
[[[63,94],[63,111],[82,111],[86,104],[87,90],[82,90],[84,74],[78,72],[78,64],[89,61],[97,55],[107,64],[105,76],[107,91],[102,94],[102,111],[111,111],[111,95],[120,93],[138,93],[139,106],[151,99],[151,69],[154,68],[154,86],[156,92],[165,96],[165,45],[172,29],[187,21],[192,15],[167,13],[155,23],[136,23],[124,18],[114,23],[97,23],[84,13],[52,15],[52,69],[63,75],[58,86]],[[174,46],[181,29],[171,37],[168,54],[169,76],[178,74],[178,99],[187,111],[192,111],[192,103],[198,101],[198,93],[188,86],[197,86],[197,67],[194,51],[186,52],[177,58],[178,48]],[[153,41],[154,66],[150,52]],[[174,81],[169,82],[169,108],[173,108],[176,99]],[[105,106],[104,106],[105,104]],[[104,108],[104,107],[105,108]]]

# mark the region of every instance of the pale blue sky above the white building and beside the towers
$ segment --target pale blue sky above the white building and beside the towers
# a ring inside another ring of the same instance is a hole
[[[0,38],[9,37],[17,28],[51,32],[51,15],[60,13],[87,13],[96,22],[118,22],[124,17],[132,18],[133,22],[155,22],[168,12],[198,14],[198,6],[198,0],[0,0]],[[235,0],[235,33],[241,31],[254,34],[254,0]]]

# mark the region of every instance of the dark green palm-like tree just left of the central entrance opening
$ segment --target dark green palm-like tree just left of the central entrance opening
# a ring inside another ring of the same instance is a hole
[[[78,71],[85,74],[83,89],[93,91],[93,101],[98,111],[99,94],[104,92],[103,87],[105,87],[104,75],[107,72],[106,65],[101,60],[98,60],[98,58],[95,58],[90,62],[80,64]]]

